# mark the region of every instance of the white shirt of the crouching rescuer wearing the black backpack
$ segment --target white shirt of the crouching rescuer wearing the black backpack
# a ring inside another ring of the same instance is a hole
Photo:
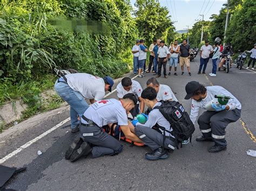
[[[156,103],[154,107],[160,106],[161,103]],[[158,124],[160,126],[163,126],[167,131],[172,131],[171,124],[169,121],[166,120],[166,118],[161,114],[159,109],[154,109],[150,111],[149,113],[149,119],[146,121],[145,124],[137,123],[136,125],[142,125],[145,126],[145,128],[152,128],[154,125]],[[163,130],[160,130],[162,133]],[[163,133],[164,134],[164,133]],[[165,136],[171,136],[173,137],[169,132],[165,132]],[[174,138],[174,137],[173,137]]]

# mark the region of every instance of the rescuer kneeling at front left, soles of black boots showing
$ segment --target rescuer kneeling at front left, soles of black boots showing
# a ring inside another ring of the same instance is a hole
[[[142,143],[134,133],[134,127],[128,121],[126,112],[137,104],[134,94],[126,94],[122,100],[101,100],[93,103],[82,116],[80,137],[75,140],[65,153],[71,162],[92,153],[92,158],[102,155],[114,155],[123,150],[123,146],[114,137],[103,130],[103,126],[118,123],[126,138]]]

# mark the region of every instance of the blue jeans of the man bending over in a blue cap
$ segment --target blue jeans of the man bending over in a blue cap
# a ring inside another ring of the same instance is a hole
[[[73,129],[79,125],[77,117],[81,118],[89,105],[85,98],[78,91],[70,88],[68,84],[57,80],[54,87],[57,94],[70,105],[71,129]]]

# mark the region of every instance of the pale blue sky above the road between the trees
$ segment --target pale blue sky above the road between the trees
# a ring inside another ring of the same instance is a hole
[[[130,0],[132,6],[136,0]],[[210,20],[212,14],[219,14],[219,10],[227,0],[159,0],[161,6],[169,9],[169,15],[176,30],[192,28],[193,24],[201,19],[200,15],[205,15],[204,20]]]

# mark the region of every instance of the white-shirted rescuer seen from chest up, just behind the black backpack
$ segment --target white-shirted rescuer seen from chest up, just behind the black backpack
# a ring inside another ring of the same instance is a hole
[[[171,88],[165,84],[160,84],[157,79],[151,77],[146,82],[147,87],[152,87],[157,91],[157,101],[176,101],[178,102],[176,96],[173,94]]]

